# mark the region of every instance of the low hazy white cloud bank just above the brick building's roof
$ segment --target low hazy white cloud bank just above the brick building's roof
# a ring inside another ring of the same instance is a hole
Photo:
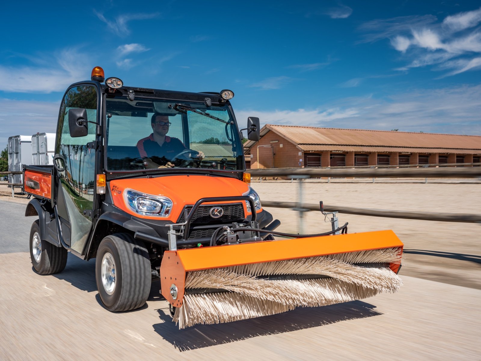
[[[481,85],[415,90],[387,99],[346,98],[311,110],[236,111],[241,124],[248,116],[258,116],[261,125],[481,135]]]

